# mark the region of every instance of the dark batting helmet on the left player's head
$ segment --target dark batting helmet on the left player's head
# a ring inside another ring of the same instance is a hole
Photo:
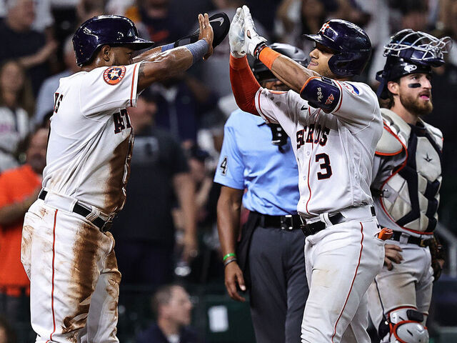
[[[82,66],[91,61],[96,49],[105,44],[129,44],[132,49],[141,50],[152,46],[154,41],[140,38],[134,22],[125,16],[94,16],[84,21],[73,36],[76,64]]]

